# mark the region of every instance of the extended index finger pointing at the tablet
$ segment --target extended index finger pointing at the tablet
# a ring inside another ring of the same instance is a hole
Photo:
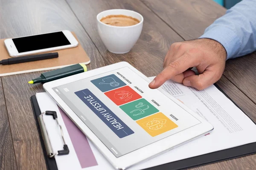
[[[188,54],[183,54],[180,58],[171,62],[163,71],[154,78],[149,84],[149,88],[159,88],[166,80],[183,73],[188,68],[196,66],[197,57],[190,57]]]

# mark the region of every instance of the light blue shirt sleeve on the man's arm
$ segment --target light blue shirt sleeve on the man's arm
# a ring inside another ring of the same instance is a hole
[[[220,42],[227,59],[256,50],[256,0],[242,0],[210,25],[199,38]]]

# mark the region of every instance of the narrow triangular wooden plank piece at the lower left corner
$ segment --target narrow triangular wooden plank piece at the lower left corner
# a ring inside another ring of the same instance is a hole
[[[0,170],[16,170],[12,135],[6,111],[3,85],[0,79]]]

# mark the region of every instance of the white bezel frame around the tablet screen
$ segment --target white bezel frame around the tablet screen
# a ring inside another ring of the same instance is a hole
[[[65,77],[63,79],[47,82],[43,85],[45,91],[47,91],[47,93],[52,97],[52,99],[55,100],[55,102],[63,109],[63,111],[70,117],[70,119],[87,136],[87,138],[89,138],[93,142],[93,144],[100,150],[100,152],[105,156],[105,158],[108,159],[108,161],[113,165],[114,168],[126,169],[134,164],[139,163],[140,161],[148,159],[152,156],[156,156],[157,154],[162,153],[166,150],[170,150],[174,147],[177,147],[178,145],[188,142],[189,140],[195,139],[198,136],[207,134],[209,133],[209,131],[213,129],[213,126],[209,122],[207,122],[198,114],[187,108],[186,105],[184,105],[178,99],[173,97],[171,94],[167,93],[163,88],[158,88],[158,90],[161,93],[166,95],[169,99],[174,101],[181,108],[192,114],[192,116],[198,119],[201,123],[116,158],[116,156],[113,155],[113,153],[108,149],[108,147],[106,147],[105,144],[101,142],[101,140],[90,130],[90,128],[87,127],[87,125],[85,125],[84,122],[82,122],[82,120],[76,115],[76,113],[74,113],[70,109],[70,107],[58,96],[58,94],[55,93],[55,91],[52,90],[52,88],[123,67],[130,68],[140,77],[145,79],[145,81],[151,82],[151,80],[148,79],[148,77],[146,77],[136,68],[128,64],[128,62],[119,62],[102,68],[97,68],[92,71],[87,71],[81,74]]]

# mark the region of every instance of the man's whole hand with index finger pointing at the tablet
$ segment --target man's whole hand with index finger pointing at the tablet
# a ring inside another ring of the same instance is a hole
[[[168,79],[202,90],[217,82],[224,71],[227,54],[225,48],[211,39],[175,42],[163,63],[163,71],[149,84],[159,88]],[[196,67],[199,75],[189,70]]]

